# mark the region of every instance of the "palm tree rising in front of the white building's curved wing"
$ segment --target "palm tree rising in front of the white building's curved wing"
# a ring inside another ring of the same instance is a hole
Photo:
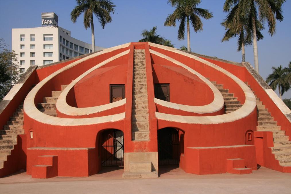
[[[76,3],[77,6],[71,12],[71,20],[75,23],[81,13],[84,13],[84,27],[88,29],[91,26],[92,52],[95,52],[93,14],[104,29],[105,24],[112,21],[110,14],[114,14],[115,5],[110,0],[76,0]]]

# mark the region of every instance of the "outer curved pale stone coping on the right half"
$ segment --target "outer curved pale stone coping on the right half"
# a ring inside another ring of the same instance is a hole
[[[239,87],[242,88],[244,94],[245,94],[245,103],[242,105],[241,108],[237,109],[236,111],[233,111],[228,114],[223,114],[223,115],[215,115],[215,116],[182,116],[182,115],[172,115],[172,114],[166,114],[166,113],[159,113],[156,112],[156,118],[159,120],[166,120],[170,122],[180,122],[180,123],[189,123],[189,124],[219,124],[219,123],[224,123],[224,122],[233,122],[235,120],[242,119],[249,114],[253,112],[253,110],[256,108],[256,99],[255,95],[251,91],[251,89],[242,81],[240,80],[237,76],[233,75],[232,73],[228,72],[227,70],[219,67],[218,65],[215,65],[207,60],[204,60],[200,57],[197,57],[195,55],[180,51],[178,49],[172,48],[172,47],[166,47],[163,45],[158,45],[149,42],[148,43],[150,46],[157,47],[160,49],[164,49],[167,51],[171,51],[177,54],[181,54],[183,56],[187,56],[189,58],[194,58],[197,61],[200,61],[201,63],[208,65],[212,68],[214,68],[217,71],[222,72],[226,76],[230,77],[233,79]]]

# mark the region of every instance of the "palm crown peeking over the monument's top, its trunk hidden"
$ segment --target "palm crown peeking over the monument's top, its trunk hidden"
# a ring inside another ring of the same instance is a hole
[[[152,29],[150,29],[150,31],[143,30],[141,35],[143,38],[139,40],[139,42],[152,42],[167,47],[174,47],[170,40],[157,34],[157,26],[154,26]]]

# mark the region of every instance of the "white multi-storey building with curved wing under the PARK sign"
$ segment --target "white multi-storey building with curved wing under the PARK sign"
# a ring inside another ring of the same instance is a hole
[[[102,50],[95,47],[95,51]],[[18,57],[20,71],[30,65],[47,65],[92,52],[92,45],[71,37],[71,32],[58,26],[12,29],[12,50]]]

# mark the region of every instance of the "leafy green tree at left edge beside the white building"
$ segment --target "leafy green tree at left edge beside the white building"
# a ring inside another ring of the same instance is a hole
[[[0,51],[0,101],[21,76],[16,55],[14,51],[7,49]]]

